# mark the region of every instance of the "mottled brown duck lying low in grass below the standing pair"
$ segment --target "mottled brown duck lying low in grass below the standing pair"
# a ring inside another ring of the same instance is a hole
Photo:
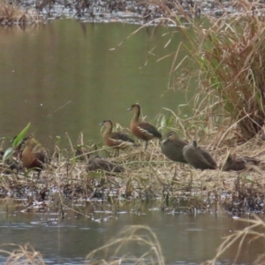
[[[87,172],[95,170],[104,170],[108,172],[119,173],[124,171],[125,169],[117,163],[113,163],[106,159],[102,159],[99,156],[92,155],[88,159],[86,170]]]

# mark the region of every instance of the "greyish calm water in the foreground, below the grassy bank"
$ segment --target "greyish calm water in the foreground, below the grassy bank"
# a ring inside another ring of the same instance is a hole
[[[52,214],[21,213],[21,207],[9,207],[8,210],[2,207],[0,244],[30,243],[37,251],[42,252],[47,264],[80,264],[90,251],[106,244],[126,225],[146,224],[155,232],[166,264],[199,264],[214,257],[223,237],[246,226],[246,223],[233,220],[222,211],[198,216],[167,215],[156,206],[155,203],[140,206],[144,215],[130,213],[129,208],[132,206],[121,206],[117,215],[113,215],[108,207],[95,207],[95,219],[116,217],[102,223],[76,216],[71,211],[66,212],[66,217],[61,220],[59,216]],[[79,207],[86,214],[91,209],[91,206]],[[38,223],[48,220],[52,223]],[[257,242],[250,246],[243,245],[236,264],[251,264],[257,254],[263,253],[263,244]],[[237,247],[238,245],[231,247],[219,264],[231,264]],[[131,248],[130,252],[140,255],[138,248]],[[4,258],[0,254],[0,262],[1,260]]]

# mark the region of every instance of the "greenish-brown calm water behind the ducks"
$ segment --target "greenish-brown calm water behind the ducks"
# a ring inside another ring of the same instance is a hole
[[[134,102],[148,120],[169,116],[164,107],[177,111],[186,95],[166,92],[172,59],[156,60],[176,51],[182,37],[163,49],[171,36],[163,34],[175,29],[148,27],[118,47],[138,27],[71,19],[26,31],[0,27],[0,137],[31,122],[30,133],[44,145],[65,132],[73,142],[80,132],[98,142],[102,120],[129,126]]]

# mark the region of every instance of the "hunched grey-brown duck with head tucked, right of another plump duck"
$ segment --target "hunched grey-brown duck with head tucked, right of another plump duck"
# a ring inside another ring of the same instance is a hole
[[[183,155],[187,163],[191,164],[196,169],[201,170],[216,170],[216,162],[207,150],[197,147],[197,141],[183,148]]]

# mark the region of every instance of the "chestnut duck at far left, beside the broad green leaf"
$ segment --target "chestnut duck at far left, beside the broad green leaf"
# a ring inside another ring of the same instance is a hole
[[[40,175],[43,163],[46,162],[46,154],[42,145],[31,136],[24,138],[21,143],[26,145],[21,155],[22,163],[27,170],[34,169]]]

